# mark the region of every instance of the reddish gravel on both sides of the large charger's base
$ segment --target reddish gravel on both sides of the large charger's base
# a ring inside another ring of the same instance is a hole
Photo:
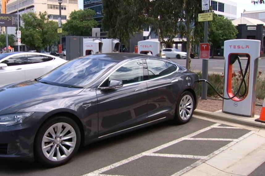
[[[256,104],[262,105],[263,100],[256,100]],[[207,100],[199,100],[197,109],[204,110],[204,111],[210,111],[210,112],[215,112],[222,110],[223,106],[223,101],[219,99],[212,99],[212,98],[207,98]],[[262,106],[255,106],[255,115],[260,115]]]

